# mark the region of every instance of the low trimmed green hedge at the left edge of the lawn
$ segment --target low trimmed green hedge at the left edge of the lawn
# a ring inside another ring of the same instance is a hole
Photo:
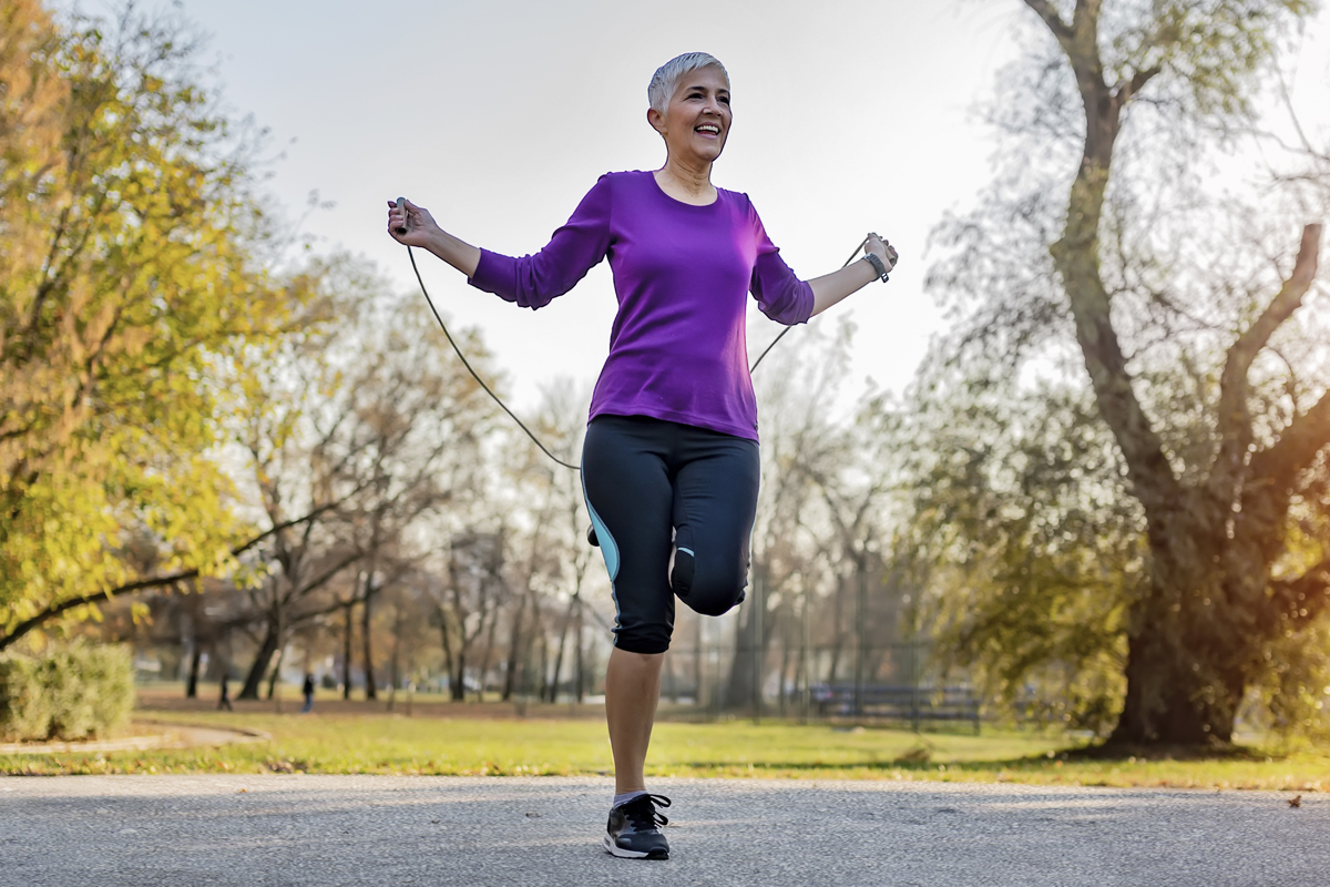
[[[133,666],[124,648],[76,641],[36,657],[0,657],[7,741],[102,737],[129,719],[133,705]]]

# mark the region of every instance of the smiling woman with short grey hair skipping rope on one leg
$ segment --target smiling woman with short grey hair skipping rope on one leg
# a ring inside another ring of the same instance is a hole
[[[618,314],[583,445],[583,492],[616,613],[605,676],[616,795],[605,850],[666,859],[658,827],[666,819],[656,807],[670,802],[648,794],[642,769],[674,596],[720,616],[743,600],[747,584],[758,492],[747,295],[777,322],[805,323],[886,279],[896,257],[870,234],[863,261],[801,281],[747,195],[712,185],[733,120],[721,63],[706,53],[678,56],[652,77],[648,98],[665,165],[602,176],[540,253],[480,250],[410,201],[388,205],[388,233],[434,253],[472,286],[531,309],[609,258]]]

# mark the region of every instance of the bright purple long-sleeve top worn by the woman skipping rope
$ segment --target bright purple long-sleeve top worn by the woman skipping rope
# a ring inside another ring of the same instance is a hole
[[[618,314],[591,419],[652,416],[757,440],[745,307],[803,323],[813,289],[781,259],[747,194],[708,206],[669,197],[649,172],[606,173],[535,255],[480,251],[471,285],[539,309],[609,257]]]

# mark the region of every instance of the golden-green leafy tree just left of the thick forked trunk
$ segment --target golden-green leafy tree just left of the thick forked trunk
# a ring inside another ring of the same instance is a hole
[[[1140,505],[1083,387],[988,387],[930,367],[903,451],[914,513],[895,544],[946,665],[1021,717],[1107,735],[1128,602],[1145,589]],[[940,593],[938,593],[940,592]]]

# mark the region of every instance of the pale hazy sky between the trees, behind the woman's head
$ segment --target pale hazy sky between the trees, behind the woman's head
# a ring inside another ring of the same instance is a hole
[[[209,35],[201,61],[226,104],[270,130],[273,199],[295,219],[317,191],[332,206],[302,233],[374,262],[400,291],[415,281],[384,231],[387,199],[408,197],[473,245],[533,253],[600,174],[662,164],[646,84],[670,57],[710,52],[734,108],[713,182],[751,197],[786,262],[803,278],[833,271],[868,230],[900,253],[888,283],[813,320],[853,315],[851,396],[867,378],[900,391],[944,330],[923,286],[928,234],[988,180],[996,141],[980,112],[1000,69],[1041,39],[1019,0],[174,5]],[[1330,86],[1325,31],[1299,88]],[[533,313],[422,258],[446,314],[483,330],[519,410],[556,376],[595,379],[614,313],[608,265]],[[778,331],[758,324],[750,354]]]

